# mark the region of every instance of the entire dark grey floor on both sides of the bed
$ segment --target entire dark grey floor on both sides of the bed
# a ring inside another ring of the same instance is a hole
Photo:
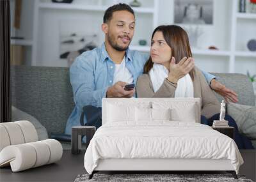
[[[241,155],[244,165],[241,166],[239,174],[244,174],[246,178],[256,181],[256,150],[242,150]],[[62,159],[57,163],[22,172],[12,172],[10,167],[5,167],[0,169],[0,181],[74,181],[78,174],[86,173],[83,157],[84,151],[79,155],[72,155],[70,150],[64,150]]]

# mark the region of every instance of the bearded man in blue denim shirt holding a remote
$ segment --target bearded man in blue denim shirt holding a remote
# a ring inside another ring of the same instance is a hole
[[[148,59],[148,54],[128,49],[134,28],[134,11],[127,4],[115,4],[106,10],[102,24],[105,42],[99,48],[83,52],[70,67],[76,106],[68,118],[66,134],[71,133],[72,126],[80,125],[85,105],[101,107],[102,98],[130,98],[134,95],[135,89],[125,91],[124,86],[136,84]],[[193,62],[191,59],[188,61]],[[214,75],[204,74],[212,89],[236,102],[236,93],[217,82]]]

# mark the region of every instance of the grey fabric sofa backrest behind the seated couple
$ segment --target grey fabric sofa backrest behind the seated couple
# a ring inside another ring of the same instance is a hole
[[[48,133],[63,133],[74,108],[68,68],[13,66],[11,71],[12,105],[38,119]],[[238,93],[239,103],[255,105],[252,83],[246,75],[214,74]]]

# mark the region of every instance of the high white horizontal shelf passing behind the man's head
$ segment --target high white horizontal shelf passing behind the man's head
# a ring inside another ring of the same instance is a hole
[[[84,4],[60,4],[60,3],[40,3],[39,8],[54,10],[87,10],[87,11],[105,11],[108,6],[95,6]],[[154,8],[132,8],[136,13],[154,13]]]

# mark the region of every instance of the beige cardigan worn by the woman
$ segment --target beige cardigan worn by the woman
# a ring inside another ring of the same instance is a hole
[[[218,102],[204,75],[198,68],[195,68],[193,86],[194,97],[201,99],[201,114],[206,118],[210,118],[214,114],[220,113],[220,102]],[[177,85],[165,79],[162,86],[154,93],[150,76],[143,74],[137,80],[136,93],[138,98],[173,98],[176,87]]]

